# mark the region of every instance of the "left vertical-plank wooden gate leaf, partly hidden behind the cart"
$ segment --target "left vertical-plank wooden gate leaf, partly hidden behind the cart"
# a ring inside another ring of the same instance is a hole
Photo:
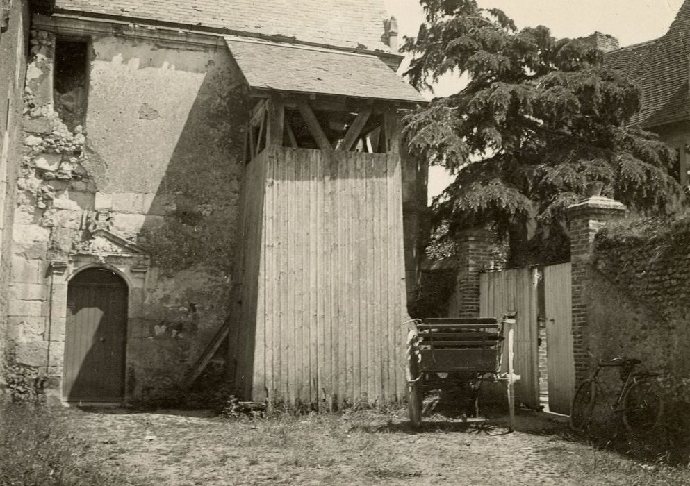
[[[515,392],[518,402],[530,408],[539,406],[538,278],[536,268],[520,268],[487,272],[482,274],[479,280],[479,309],[482,317],[500,319],[506,312],[518,313],[514,362],[515,373],[520,378],[516,381]],[[502,371],[507,371],[507,359],[504,359]]]

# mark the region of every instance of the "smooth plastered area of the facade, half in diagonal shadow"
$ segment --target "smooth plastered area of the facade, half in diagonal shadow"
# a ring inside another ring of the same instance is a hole
[[[248,103],[224,44],[95,40],[89,156],[107,174],[95,209],[151,255],[143,314],[130,316],[130,392],[172,389],[229,312]]]

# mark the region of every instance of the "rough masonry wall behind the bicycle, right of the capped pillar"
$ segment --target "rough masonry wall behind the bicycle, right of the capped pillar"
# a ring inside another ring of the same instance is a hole
[[[587,272],[589,343],[671,377],[690,376],[690,216],[621,221],[595,237]]]

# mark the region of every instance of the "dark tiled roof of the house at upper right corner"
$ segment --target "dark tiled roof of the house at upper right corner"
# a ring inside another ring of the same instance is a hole
[[[690,0],[659,39],[606,53],[605,66],[642,88],[642,110],[632,118],[646,128],[690,119]]]

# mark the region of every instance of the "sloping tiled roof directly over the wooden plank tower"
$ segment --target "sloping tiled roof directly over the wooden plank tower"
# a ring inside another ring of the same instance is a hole
[[[377,56],[226,37],[254,88],[426,103]]]

